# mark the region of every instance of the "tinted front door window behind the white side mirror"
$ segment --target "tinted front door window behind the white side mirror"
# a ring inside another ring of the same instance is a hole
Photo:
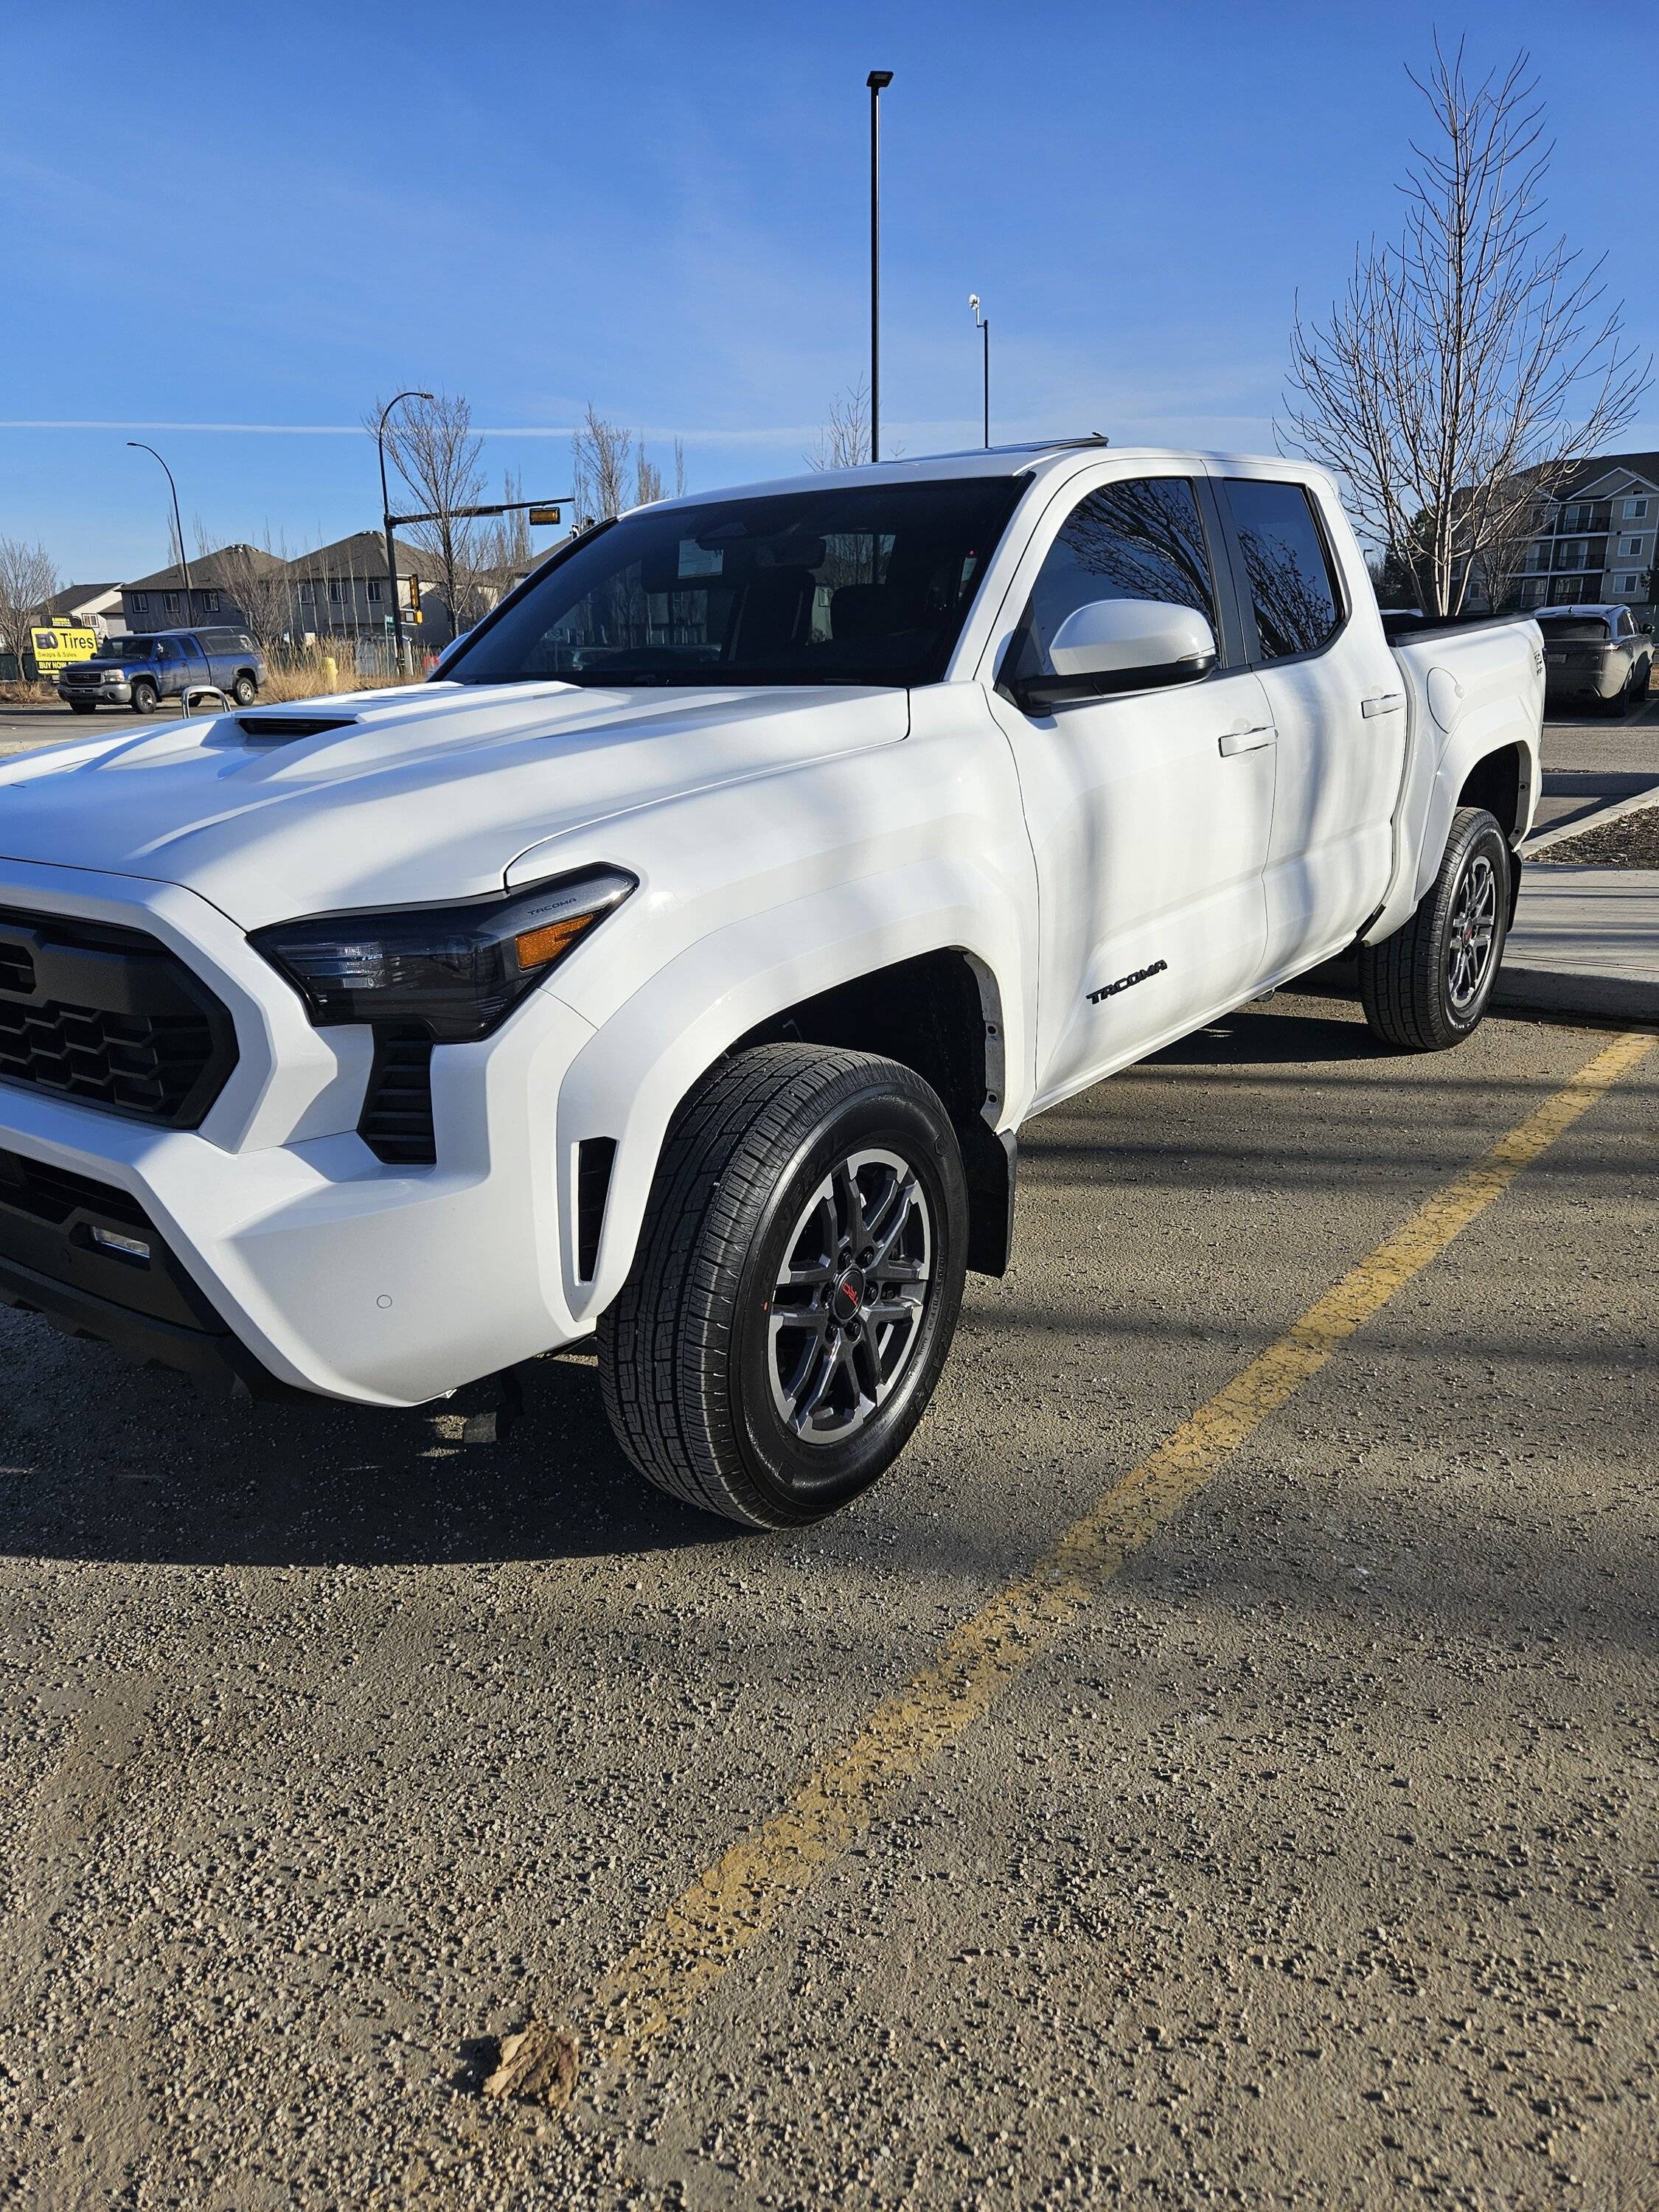
[[[1091,599],[1166,599],[1219,630],[1210,546],[1183,476],[1104,484],[1073,507],[1031,586],[1009,677],[1046,675],[1055,630]]]

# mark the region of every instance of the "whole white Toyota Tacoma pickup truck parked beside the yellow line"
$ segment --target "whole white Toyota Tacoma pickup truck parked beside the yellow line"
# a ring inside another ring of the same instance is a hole
[[[1104,440],[646,507],[416,690],[0,770],[0,1296],[418,1405],[597,1334],[757,1526],[916,1427],[1015,1130],[1352,953],[1482,1015],[1531,622],[1391,646],[1316,469]]]

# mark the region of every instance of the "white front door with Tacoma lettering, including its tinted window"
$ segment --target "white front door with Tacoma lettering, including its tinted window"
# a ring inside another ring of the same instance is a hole
[[[1037,860],[1037,1097],[1077,1091],[1250,995],[1263,973],[1274,730],[1217,588],[1208,487],[1119,478],[1062,522],[1009,675],[1091,599],[1190,606],[1217,635],[1197,684],[1022,714],[998,695]]]

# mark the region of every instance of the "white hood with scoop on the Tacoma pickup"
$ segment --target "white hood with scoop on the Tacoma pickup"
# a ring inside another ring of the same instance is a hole
[[[22,754],[0,856],[181,883],[257,929],[498,891],[531,845],[907,730],[902,690],[349,692]]]

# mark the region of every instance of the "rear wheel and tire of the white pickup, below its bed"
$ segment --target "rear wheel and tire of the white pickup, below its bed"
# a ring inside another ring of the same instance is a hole
[[[1380,945],[1360,945],[1360,1004],[1374,1037],[1402,1053],[1444,1053],[1480,1026],[1504,960],[1509,872],[1495,818],[1458,807],[1418,911]]]

